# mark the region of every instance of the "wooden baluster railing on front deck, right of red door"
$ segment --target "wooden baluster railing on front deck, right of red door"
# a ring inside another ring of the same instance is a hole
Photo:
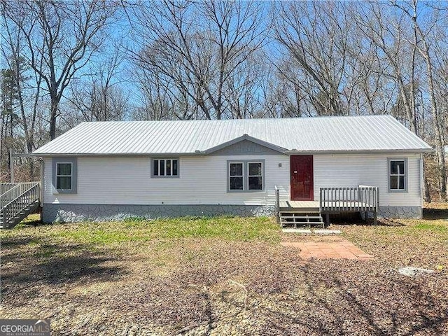
[[[374,186],[320,188],[319,207],[323,212],[374,211],[379,204],[379,188]]]

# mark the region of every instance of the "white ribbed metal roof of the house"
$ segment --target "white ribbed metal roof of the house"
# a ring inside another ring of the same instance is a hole
[[[340,116],[81,123],[34,155],[204,155],[239,139],[284,153],[432,151],[391,116]]]

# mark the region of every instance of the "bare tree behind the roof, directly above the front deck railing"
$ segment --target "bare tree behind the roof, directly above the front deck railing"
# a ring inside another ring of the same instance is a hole
[[[307,96],[316,113],[346,114],[341,89],[350,22],[342,6],[284,2],[276,13],[274,36],[282,50],[300,66],[302,78],[296,80],[307,78],[303,83],[309,84]]]

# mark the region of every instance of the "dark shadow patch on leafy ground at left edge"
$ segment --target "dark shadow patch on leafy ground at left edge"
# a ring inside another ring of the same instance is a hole
[[[30,299],[39,286],[61,286],[114,281],[126,274],[108,248],[87,244],[48,243],[31,237],[1,241],[1,292],[3,302],[18,295]],[[48,287],[47,287],[48,288]]]

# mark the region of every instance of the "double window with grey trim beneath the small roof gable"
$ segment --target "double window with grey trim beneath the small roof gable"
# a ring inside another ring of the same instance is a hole
[[[260,191],[264,188],[264,160],[228,161],[228,191]]]

